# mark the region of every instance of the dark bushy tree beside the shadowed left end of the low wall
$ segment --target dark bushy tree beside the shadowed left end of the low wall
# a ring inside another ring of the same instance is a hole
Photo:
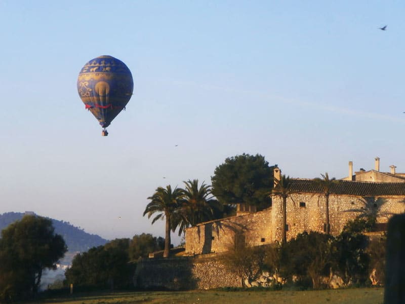
[[[66,283],[100,289],[131,286],[134,267],[129,263],[129,246],[130,239],[115,239],[77,254],[65,272]]]

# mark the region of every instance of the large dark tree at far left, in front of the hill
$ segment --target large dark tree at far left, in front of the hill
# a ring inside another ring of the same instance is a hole
[[[45,269],[56,269],[67,251],[52,220],[26,215],[2,231],[0,239],[0,295],[4,300],[33,297]]]

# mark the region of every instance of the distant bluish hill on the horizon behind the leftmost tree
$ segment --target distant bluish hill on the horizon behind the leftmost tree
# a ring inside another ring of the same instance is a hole
[[[5,229],[12,222],[20,220],[25,214],[35,215],[33,212],[7,212],[0,214],[0,230]],[[84,232],[83,229],[75,227],[69,222],[53,218],[50,219],[55,227],[55,233],[61,235],[65,240],[69,253],[74,253],[77,251],[84,252],[92,247],[104,245],[108,242],[98,235]]]

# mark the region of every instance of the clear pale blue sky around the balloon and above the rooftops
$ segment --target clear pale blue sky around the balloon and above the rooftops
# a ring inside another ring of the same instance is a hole
[[[238,154],[300,178],[377,156],[405,172],[404,13],[403,1],[0,0],[0,213],[163,236],[142,217],[156,187],[211,184]],[[76,89],[100,55],[134,77],[108,137]]]

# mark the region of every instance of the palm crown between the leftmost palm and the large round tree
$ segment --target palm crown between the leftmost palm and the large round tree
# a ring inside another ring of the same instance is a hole
[[[186,227],[215,218],[215,214],[221,211],[221,205],[211,194],[211,186],[204,181],[198,186],[198,179],[184,181],[185,188],[182,189],[184,197],[182,210],[177,214],[176,221],[179,226],[179,235]]]

